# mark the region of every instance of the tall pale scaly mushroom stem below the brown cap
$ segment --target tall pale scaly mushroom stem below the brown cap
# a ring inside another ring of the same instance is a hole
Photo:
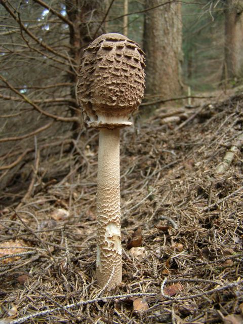
[[[100,129],[97,177],[98,285],[121,282],[119,129]],[[113,273],[113,275],[112,275]],[[111,277],[112,275],[112,277]]]

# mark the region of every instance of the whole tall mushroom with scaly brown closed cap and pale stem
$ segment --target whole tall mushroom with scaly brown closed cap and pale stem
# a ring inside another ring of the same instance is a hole
[[[138,44],[108,33],[86,48],[78,71],[84,120],[99,129],[96,276],[109,289],[121,282],[119,129],[133,124],[129,118],[141,103],[144,62]]]

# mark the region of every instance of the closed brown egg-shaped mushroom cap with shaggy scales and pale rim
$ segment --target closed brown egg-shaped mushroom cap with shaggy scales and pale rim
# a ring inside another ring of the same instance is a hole
[[[128,119],[144,94],[144,68],[143,51],[124,35],[103,34],[86,48],[76,94],[89,126],[132,125]]]

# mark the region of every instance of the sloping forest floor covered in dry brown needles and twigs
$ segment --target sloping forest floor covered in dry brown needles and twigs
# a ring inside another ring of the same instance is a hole
[[[1,211],[1,324],[243,323],[243,95],[223,99],[121,131],[115,291],[95,279],[97,131],[53,161],[61,181]]]

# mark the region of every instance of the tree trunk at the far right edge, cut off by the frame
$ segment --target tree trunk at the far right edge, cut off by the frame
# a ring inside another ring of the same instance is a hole
[[[226,0],[223,79],[228,82],[243,71],[243,1]]]

